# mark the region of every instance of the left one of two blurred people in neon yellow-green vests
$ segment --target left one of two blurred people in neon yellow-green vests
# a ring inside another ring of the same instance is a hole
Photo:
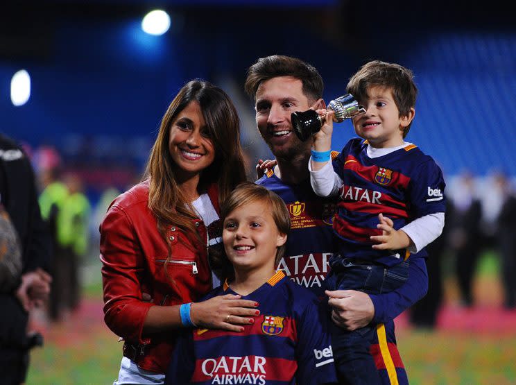
[[[42,192],[39,202],[41,214],[46,221],[52,239],[53,257],[51,263],[52,290],[49,298],[48,313],[52,321],[60,320],[63,311],[66,308],[66,297],[69,293],[69,271],[67,245],[63,243],[58,234],[62,222],[60,212],[65,204],[68,196],[68,188],[62,180],[60,180],[59,164],[53,164],[51,167],[42,167],[40,169],[40,185]]]

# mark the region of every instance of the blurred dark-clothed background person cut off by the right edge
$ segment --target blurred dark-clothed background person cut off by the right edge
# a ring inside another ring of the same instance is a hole
[[[516,307],[516,196],[515,189],[504,173],[494,176],[501,191],[502,205],[497,219],[497,250],[501,257],[501,282],[504,286],[504,306]]]

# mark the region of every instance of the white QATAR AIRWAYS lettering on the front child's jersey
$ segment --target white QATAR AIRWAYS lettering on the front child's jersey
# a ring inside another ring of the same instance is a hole
[[[200,369],[212,384],[265,384],[267,359],[261,356],[205,359]]]

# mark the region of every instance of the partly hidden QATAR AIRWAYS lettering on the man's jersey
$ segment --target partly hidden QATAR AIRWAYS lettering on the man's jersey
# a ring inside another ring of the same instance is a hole
[[[277,270],[284,271],[289,279],[304,287],[320,287],[329,270],[332,253],[311,253],[283,257]]]

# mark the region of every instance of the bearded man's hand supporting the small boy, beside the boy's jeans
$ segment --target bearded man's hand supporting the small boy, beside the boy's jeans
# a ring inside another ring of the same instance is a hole
[[[338,326],[352,332],[364,327],[375,316],[375,305],[367,293],[355,290],[325,291],[332,307],[332,320]]]

